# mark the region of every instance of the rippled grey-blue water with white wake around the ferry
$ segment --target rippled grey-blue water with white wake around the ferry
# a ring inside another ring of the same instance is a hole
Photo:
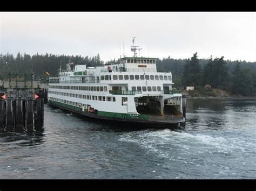
[[[41,132],[0,133],[0,179],[256,178],[256,100],[188,100],[174,131],[44,109]]]

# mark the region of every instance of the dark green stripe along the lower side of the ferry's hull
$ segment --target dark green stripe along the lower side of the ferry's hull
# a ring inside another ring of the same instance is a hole
[[[65,108],[70,108],[77,111],[82,111],[82,108],[80,107],[76,107],[76,106],[65,104],[65,103],[60,103],[52,100],[49,100],[49,103],[59,105]],[[89,113],[87,109],[82,112]],[[98,111],[98,114],[95,114],[95,115],[103,116],[103,117],[111,117],[111,118],[122,118],[122,119],[141,119],[141,120],[149,119],[147,115],[143,115],[143,114],[122,114],[122,113],[106,112],[106,111]]]

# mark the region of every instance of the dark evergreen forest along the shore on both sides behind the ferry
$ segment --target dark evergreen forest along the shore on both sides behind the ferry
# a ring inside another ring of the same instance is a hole
[[[9,73],[33,73],[36,79],[46,80],[49,76],[57,76],[60,64],[65,68],[66,63],[75,65],[102,66],[106,63],[117,63],[117,60],[104,62],[99,54],[88,57],[81,55],[55,54],[0,54],[0,80],[8,77]],[[194,53],[188,59],[173,59],[170,56],[157,60],[158,72],[172,72],[174,87],[185,89],[194,86],[199,94],[212,96],[213,88],[226,90],[231,95],[256,95],[256,62],[231,61],[221,58],[199,59]],[[196,91],[195,91],[196,92]]]

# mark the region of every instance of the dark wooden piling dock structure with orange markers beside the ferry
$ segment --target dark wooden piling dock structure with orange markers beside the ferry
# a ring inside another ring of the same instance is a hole
[[[9,74],[0,91],[0,131],[33,132],[43,126],[47,89],[33,74]]]

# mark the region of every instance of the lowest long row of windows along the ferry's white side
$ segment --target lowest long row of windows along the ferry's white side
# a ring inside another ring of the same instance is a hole
[[[116,97],[109,97],[109,96],[106,97],[106,96],[70,94],[70,93],[57,92],[57,91],[49,91],[48,93],[55,94],[55,95],[76,97],[76,98],[81,98],[84,100],[98,100],[98,101],[107,101],[107,102],[115,102],[116,101]]]

